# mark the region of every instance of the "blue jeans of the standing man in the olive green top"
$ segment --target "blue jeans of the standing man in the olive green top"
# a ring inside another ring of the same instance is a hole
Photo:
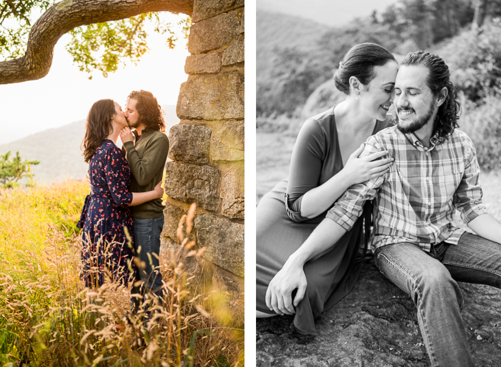
[[[163,214],[153,219],[138,219],[134,220],[134,248],[136,256],[139,257],[146,267],[139,269],[139,276],[144,282],[141,288],[132,287],[131,293],[141,293],[143,295],[143,302],[147,301],[145,307],[146,319],[149,319],[150,312],[149,302],[156,301],[158,304],[162,303],[163,297],[163,283],[162,274],[158,267],[158,256],[160,254],[160,233],[163,228],[164,217]],[[156,254],[156,256],[154,255]],[[149,301],[149,302],[148,302]],[[133,300],[135,311],[139,309],[140,301]]]

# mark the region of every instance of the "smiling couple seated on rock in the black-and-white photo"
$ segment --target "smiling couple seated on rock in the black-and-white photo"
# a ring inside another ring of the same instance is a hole
[[[257,207],[257,316],[295,314],[315,334],[360,273],[372,214],[376,266],[416,304],[432,365],[472,366],[457,281],[501,287],[501,223],[482,204],[448,67],[363,43],[334,78],[346,100],[305,122],[289,179]],[[452,224],[456,209],[476,234]]]

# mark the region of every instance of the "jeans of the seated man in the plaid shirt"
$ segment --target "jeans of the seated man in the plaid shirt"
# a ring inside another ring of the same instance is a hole
[[[425,252],[409,243],[376,249],[376,265],[417,306],[417,318],[434,367],[473,366],[456,281],[501,288],[501,244],[463,233],[457,245],[445,242]]]

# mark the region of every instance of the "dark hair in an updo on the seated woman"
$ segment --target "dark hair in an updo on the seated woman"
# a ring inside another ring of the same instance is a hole
[[[395,57],[383,46],[376,43],[360,43],[350,48],[339,63],[334,73],[336,87],[345,94],[350,94],[350,77],[355,76],[367,85],[375,76],[375,66],[383,66]]]

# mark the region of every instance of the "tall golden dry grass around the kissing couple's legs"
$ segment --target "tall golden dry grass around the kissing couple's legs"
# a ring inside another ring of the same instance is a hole
[[[228,311],[192,243],[161,259],[164,300],[149,324],[141,311],[124,317],[129,288],[84,287],[74,224],[87,192],[77,181],[0,191],[0,365],[243,365],[243,330],[216,316]]]

